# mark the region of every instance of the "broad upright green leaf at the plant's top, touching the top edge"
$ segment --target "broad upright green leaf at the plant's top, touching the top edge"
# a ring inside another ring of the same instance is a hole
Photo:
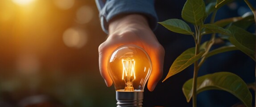
[[[203,0],[187,0],[182,9],[182,18],[194,25],[202,24],[205,14]]]

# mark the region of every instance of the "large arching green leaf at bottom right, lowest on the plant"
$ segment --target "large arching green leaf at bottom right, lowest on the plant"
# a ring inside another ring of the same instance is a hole
[[[192,97],[192,82],[193,79],[190,79],[182,87],[187,102]],[[239,76],[230,72],[218,72],[198,77],[197,94],[207,90],[227,91],[240,99],[247,107],[252,107],[252,94],[246,83]]]

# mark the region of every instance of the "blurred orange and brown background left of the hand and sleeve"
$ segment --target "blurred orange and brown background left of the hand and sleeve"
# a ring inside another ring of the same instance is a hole
[[[0,107],[114,107],[95,0],[0,0]]]

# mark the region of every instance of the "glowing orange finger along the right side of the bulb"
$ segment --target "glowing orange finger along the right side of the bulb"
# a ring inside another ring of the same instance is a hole
[[[149,56],[152,61],[152,72],[149,77],[148,89],[153,91],[163,75],[165,50],[161,45],[157,46],[156,51],[150,51]]]

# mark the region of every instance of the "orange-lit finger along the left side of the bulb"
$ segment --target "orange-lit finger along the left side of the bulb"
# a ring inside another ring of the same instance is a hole
[[[107,62],[110,54],[111,52],[104,43],[99,45],[99,71],[108,87],[113,83],[107,71]]]

